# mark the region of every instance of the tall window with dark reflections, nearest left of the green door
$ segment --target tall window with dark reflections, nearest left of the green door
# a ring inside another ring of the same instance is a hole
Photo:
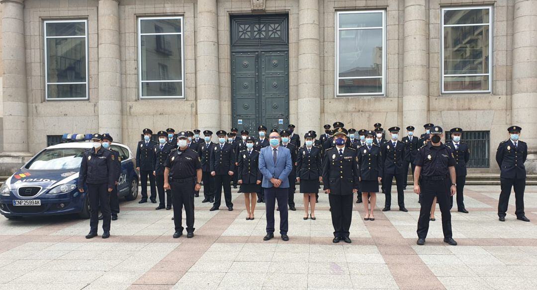
[[[138,19],[140,99],[184,98],[183,17]]]

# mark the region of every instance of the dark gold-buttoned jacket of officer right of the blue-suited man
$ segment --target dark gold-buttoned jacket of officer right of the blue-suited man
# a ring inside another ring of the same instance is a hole
[[[331,195],[352,195],[358,189],[358,164],[356,150],[345,146],[343,157],[339,157],[337,147],[324,152],[323,159],[324,190],[330,189]]]

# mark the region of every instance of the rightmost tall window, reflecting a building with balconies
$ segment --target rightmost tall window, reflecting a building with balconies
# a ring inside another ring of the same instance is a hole
[[[490,93],[492,8],[444,8],[441,23],[441,92]]]

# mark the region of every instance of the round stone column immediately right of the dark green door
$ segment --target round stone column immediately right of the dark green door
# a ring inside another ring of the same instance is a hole
[[[298,122],[300,133],[321,130],[319,3],[299,0]]]

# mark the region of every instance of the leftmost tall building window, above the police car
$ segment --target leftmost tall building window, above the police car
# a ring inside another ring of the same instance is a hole
[[[88,99],[88,21],[45,21],[47,100]]]

